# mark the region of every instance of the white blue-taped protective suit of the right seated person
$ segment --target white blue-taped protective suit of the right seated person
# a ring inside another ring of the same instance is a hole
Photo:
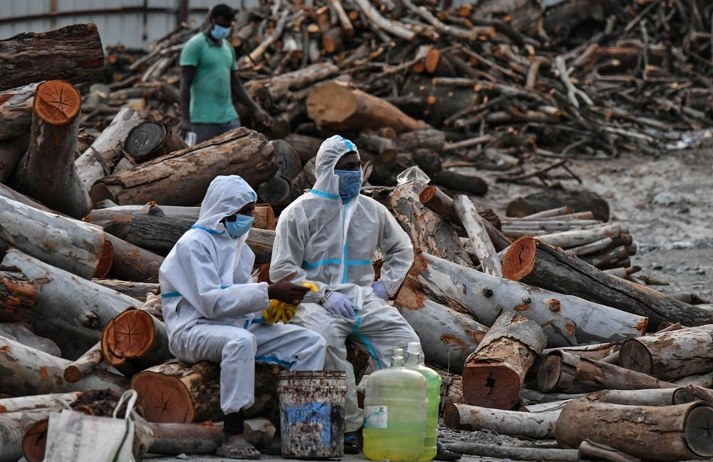
[[[319,287],[319,292],[304,297],[292,322],[327,339],[325,369],[347,372],[347,431],[356,431],[363,413],[356,404],[354,369],[347,361],[344,341],[352,339],[381,368],[391,365],[391,349],[419,342],[419,337],[401,314],[371,289],[374,250],[384,255],[379,280],[393,295],[414,261],[414,249],[384,205],[364,195],[342,204],[334,165],[349,151],[356,147],[339,135],[322,143],[314,188],[279,216],[270,279],[297,271],[295,281],[307,280]],[[327,289],[349,297],[356,312],[354,319],[333,317],[319,304]]]

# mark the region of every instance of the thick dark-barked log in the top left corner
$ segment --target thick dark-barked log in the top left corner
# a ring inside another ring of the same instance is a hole
[[[0,40],[0,90],[52,78],[96,82],[103,71],[104,53],[95,24]]]

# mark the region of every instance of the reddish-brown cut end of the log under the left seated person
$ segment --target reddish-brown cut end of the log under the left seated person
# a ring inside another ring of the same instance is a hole
[[[190,394],[175,377],[144,371],[133,376],[131,388],[138,393],[138,406],[147,421],[159,424],[193,421]]]

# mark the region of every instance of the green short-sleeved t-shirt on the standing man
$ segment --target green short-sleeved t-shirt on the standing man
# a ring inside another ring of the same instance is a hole
[[[230,98],[230,74],[237,70],[235,49],[225,39],[220,46],[202,32],[185,43],[181,66],[195,66],[190,86],[191,123],[226,123],[237,118]]]

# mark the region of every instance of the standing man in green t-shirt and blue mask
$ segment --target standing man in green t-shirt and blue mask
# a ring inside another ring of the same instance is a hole
[[[235,103],[270,127],[272,117],[252,101],[237,76],[235,49],[225,40],[235,10],[225,4],[210,11],[210,24],[185,43],[180,53],[181,129],[193,131],[196,143],[240,127]]]

